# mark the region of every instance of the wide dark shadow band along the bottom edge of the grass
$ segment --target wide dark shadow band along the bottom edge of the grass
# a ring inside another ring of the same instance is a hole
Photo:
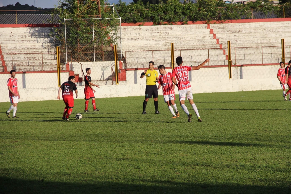
[[[74,183],[38,180],[10,179],[0,177],[1,193],[290,193],[289,182],[280,180],[267,180],[269,183],[277,182],[276,186],[258,186],[242,184],[201,184],[178,182],[172,180],[136,180],[140,184],[120,183],[116,181],[95,181],[81,178]]]

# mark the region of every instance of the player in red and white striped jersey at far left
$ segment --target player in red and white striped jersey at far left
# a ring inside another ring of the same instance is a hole
[[[18,103],[18,99],[20,98],[20,94],[17,87],[17,79],[15,78],[15,75],[16,75],[15,70],[11,70],[10,75],[11,77],[7,81],[7,86],[9,90],[10,103],[12,105],[6,111],[6,116],[10,118],[10,111],[13,109],[12,118],[18,119],[19,117],[16,117],[16,111],[17,111],[17,103]]]

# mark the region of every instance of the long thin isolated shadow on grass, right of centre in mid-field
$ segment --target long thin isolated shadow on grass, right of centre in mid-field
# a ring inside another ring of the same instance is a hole
[[[236,143],[236,142],[209,142],[209,141],[175,141],[177,144],[198,144],[198,145],[217,145],[217,146],[240,146],[240,147],[264,147],[262,144]]]

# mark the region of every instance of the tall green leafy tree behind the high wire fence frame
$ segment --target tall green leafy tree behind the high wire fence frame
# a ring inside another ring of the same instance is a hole
[[[113,8],[101,0],[99,18],[100,13],[95,1],[79,0],[78,4],[75,0],[63,0],[59,4],[56,9],[61,26],[56,29],[56,38],[61,41],[62,51],[67,48],[67,52],[72,53],[73,59],[77,61],[93,61],[95,50],[97,59],[106,60],[104,52],[111,51],[112,45],[117,44],[119,38],[120,24]]]

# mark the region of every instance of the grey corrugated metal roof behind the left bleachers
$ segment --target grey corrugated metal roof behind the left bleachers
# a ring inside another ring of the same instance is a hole
[[[17,24],[58,24],[58,15],[17,14]],[[16,24],[16,14],[0,14],[0,24]]]

